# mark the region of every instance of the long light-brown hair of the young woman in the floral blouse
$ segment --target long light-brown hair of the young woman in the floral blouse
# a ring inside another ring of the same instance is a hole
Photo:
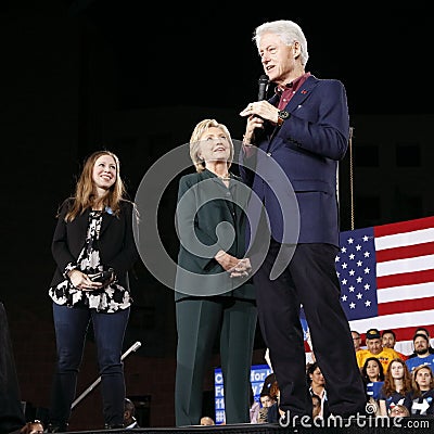
[[[93,167],[95,161],[102,155],[110,155],[116,164],[116,181],[106,191],[106,193],[97,200],[95,187],[92,179]],[[73,197],[73,205],[65,216],[65,221],[72,221],[77,216],[81,215],[86,209],[92,206],[103,205],[103,207],[111,208],[111,212],[117,216],[120,207],[119,202],[124,199],[126,189],[120,178],[120,163],[117,155],[110,151],[93,152],[85,162],[81,175],[78,178],[75,195]]]

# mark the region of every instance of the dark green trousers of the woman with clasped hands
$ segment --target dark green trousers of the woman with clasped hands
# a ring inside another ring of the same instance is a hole
[[[177,426],[197,425],[204,374],[220,337],[226,423],[250,422],[250,372],[257,312],[254,301],[186,298],[176,303],[178,330],[175,383]]]

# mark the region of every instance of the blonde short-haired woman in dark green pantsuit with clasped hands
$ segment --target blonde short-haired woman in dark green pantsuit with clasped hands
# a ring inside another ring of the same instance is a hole
[[[233,143],[215,119],[195,126],[190,156],[196,173],[180,179],[176,212],[176,424],[200,423],[204,373],[218,335],[226,423],[248,423],[257,318],[251,264],[244,257],[250,189],[228,171]]]

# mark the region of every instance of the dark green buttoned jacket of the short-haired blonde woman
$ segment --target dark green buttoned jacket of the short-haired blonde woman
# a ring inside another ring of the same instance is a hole
[[[246,252],[244,213],[250,189],[231,175],[229,188],[209,170],[179,180],[176,210],[180,241],[175,299],[191,296],[255,298],[250,278],[230,278],[214,259],[218,251],[242,259]]]

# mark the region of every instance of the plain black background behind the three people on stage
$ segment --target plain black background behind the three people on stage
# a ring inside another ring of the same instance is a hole
[[[251,36],[264,21],[298,22],[309,42],[308,71],[340,78],[347,88],[355,156],[365,162],[355,174],[356,226],[432,215],[432,89],[424,85],[422,62],[432,40],[426,5],[381,10],[363,3],[356,12],[299,5],[278,15],[276,8],[254,12],[246,5],[237,15],[219,5],[191,13],[184,4],[151,8],[132,0],[5,3],[0,11],[0,299],[23,400],[35,408],[49,405],[55,350],[48,297],[54,266],[50,243],[56,208],[73,192],[84,158],[101,148],[116,152],[135,197],[151,165],[187,143],[202,118],[216,117],[240,139],[244,123],[238,113],[256,99],[261,74]],[[404,171],[396,158],[399,145],[420,153],[419,162]],[[349,229],[349,155],[341,180],[343,229]],[[161,204],[163,238],[171,255],[177,252],[175,189],[176,178]],[[136,341],[142,347],[125,361],[127,394],[148,399],[152,426],[170,426],[173,293],[141,261],[132,291],[125,349]],[[263,355],[258,331],[253,362],[263,363]],[[218,366],[217,354],[213,365]],[[97,376],[90,334],[78,393]],[[209,370],[205,391],[212,392],[212,382]],[[71,427],[99,429],[100,414],[95,388],[74,410]]]

